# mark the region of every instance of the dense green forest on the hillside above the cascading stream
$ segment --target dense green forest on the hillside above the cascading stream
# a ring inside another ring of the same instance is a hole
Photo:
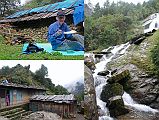
[[[143,33],[142,22],[152,13],[158,12],[158,0],[143,4],[128,2],[99,3],[93,8],[93,15],[85,17],[85,50],[100,51],[109,46],[128,42]]]

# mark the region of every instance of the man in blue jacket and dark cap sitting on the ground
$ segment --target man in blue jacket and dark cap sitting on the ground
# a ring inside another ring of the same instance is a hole
[[[70,31],[65,23],[65,13],[59,10],[57,13],[57,21],[49,26],[48,41],[52,45],[53,50],[84,50],[83,45],[73,40],[72,34],[64,34]],[[72,41],[73,40],[73,41]]]

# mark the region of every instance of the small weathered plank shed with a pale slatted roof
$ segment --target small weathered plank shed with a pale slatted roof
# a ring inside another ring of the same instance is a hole
[[[74,95],[35,95],[30,99],[30,110],[48,111],[62,118],[73,118],[77,112],[77,101]]]

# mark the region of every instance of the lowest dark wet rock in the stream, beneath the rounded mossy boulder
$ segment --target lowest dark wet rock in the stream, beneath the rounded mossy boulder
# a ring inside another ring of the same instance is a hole
[[[129,112],[129,110],[125,108],[124,101],[121,96],[109,98],[107,106],[111,117],[117,117]]]

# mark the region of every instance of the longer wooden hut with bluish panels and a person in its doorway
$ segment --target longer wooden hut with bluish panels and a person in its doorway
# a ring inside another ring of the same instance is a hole
[[[29,103],[33,95],[43,95],[44,88],[14,83],[0,83],[0,109]]]

